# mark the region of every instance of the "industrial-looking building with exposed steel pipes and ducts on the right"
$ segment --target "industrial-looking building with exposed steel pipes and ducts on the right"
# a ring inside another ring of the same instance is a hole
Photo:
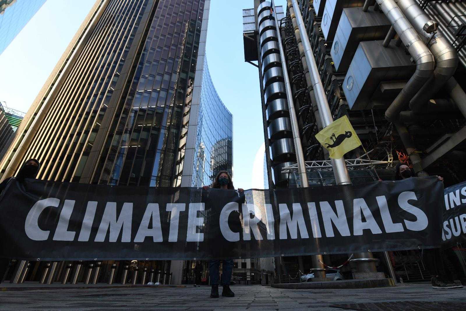
[[[464,1],[286,0],[284,10],[273,2],[243,10],[270,188],[393,180],[397,163],[440,175],[445,187],[466,180]],[[365,150],[331,160],[315,134],[342,116]],[[419,253],[291,256],[275,265],[288,282],[334,272],[322,262],[345,278],[384,277],[376,271],[385,265],[394,278],[430,280]]]

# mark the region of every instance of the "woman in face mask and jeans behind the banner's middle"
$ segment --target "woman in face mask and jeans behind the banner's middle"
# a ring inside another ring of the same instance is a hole
[[[232,177],[226,170],[219,171],[215,180],[211,186],[212,188],[217,189],[230,189],[234,190]],[[203,189],[207,190],[209,187],[204,186]],[[244,190],[238,188],[238,191],[243,192]],[[210,282],[212,285],[212,290],[210,297],[211,298],[218,298],[219,297],[219,268],[220,268],[220,261],[219,260],[211,260],[209,262],[209,276]],[[233,260],[223,260],[223,270],[222,270],[222,280],[221,283],[223,285],[222,296],[223,297],[234,297],[233,291],[230,289],[230,282],[232,278],[233,272]]]

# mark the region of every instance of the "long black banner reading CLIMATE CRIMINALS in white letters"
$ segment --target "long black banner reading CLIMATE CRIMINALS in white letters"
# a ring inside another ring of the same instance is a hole
[[[0,257],[220,259],[439,247],[435,177],[300,189],[151,188],[15,179]]]

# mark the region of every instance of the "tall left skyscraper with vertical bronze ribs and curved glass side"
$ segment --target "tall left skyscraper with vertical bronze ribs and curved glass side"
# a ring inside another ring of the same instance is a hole
[[[41,163],[39,179],[88,184],[200,187],[219,170],[232,173],[232,114],[206,61],[209,7],[210,0],[97,0],[16,131],[1,178],[30,158]],[[192,267],[13,261],[4,277],[180,284]]]

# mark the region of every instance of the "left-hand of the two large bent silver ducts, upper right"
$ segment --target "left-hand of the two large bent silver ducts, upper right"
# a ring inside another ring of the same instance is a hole
[[[385,118],[394,122],[398,119],[399,113],[430,78],[434,71],[435,61],[432,52],[425,46],[425,43],[401,12],[401,9],[397,7],[395,1],[377,0],[377,3],[392,23],[416,63],[416,71],[413,76],[385,111]]]

